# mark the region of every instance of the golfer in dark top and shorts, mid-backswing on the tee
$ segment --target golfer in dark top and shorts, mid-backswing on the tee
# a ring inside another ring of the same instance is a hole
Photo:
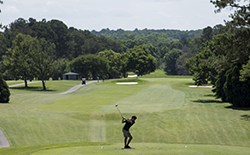
[[[136,116],[132,116],[131,119],[126,119],[126,118],[122,118],[122,123],[125,123],[125,125],[122,128],[122,132],[124,135],[124,148],[126,149],[130,149],[131,147],[129,146],[129,143],[131,142],[131,140],[133,139],[131,133],[129,132],[129,128],[135,124],[135,120],[137,119]],[[129,139],[128,139],[129,137]]]

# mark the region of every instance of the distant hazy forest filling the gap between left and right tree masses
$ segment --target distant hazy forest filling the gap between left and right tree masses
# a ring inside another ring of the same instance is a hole
[[[123,50],[138,45],[146,46],[157,60],[157,69],[165,70],[168,75],[190,75],[185,67],[185,61],[198,53],[203,43],[213,36],[231,31],[230,27],[215,25],[202,30],[138,30],[122,29],[92,31],[97,36],[111,37],[123,45]]]

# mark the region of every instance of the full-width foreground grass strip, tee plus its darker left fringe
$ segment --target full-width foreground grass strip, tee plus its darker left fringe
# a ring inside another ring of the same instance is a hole
[[[135,143],[134,148],[124,150],[122,143],[64,143],[51,145],[18,146],[1,149],[4,155],[110,155],[110,154],[145,154],[145,155],[247,155],[249,147],[221,146],[221,145],[197,145],[197,144],[166,144],[166,143]]]

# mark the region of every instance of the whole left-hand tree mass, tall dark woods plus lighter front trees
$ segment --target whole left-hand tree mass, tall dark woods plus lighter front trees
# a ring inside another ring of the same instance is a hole
[[[58,79],[74,71],[85,78],[126,77],[153,72],[156,60],[142,44],[124,47],[121,42],[68,28],[58,20],[19,18],[0,33],[0,71],[6,79],[39,78],[43,89],[50,77]]]

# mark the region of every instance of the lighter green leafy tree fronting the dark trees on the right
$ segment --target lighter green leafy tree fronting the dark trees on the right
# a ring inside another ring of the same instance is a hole
[[[185,67],[193,75],[196,85],[206,84],[208,81],[212,81],[212,84],[215,84],[219,65],[218,61],[214,61],[212,58],[220,54],[226,54],[226,40],[229,37],[229,34],[215,36],[212,41],[203,43],[194,57],[187,59]]]

